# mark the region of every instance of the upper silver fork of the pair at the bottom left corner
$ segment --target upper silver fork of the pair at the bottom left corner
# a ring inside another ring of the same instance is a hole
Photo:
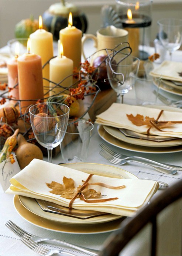
[[[31,240],[33,240],[34,242],[37,242],[37,243],[42,242],[42,241],[55,241],[55,242],[61,243],[61,245],[65,245],[65,246],[68,246],[70,248],[79,250],[81,252],[88,253],[89,255],[93,255],[93,256],[98,255],[97,253],[92,252],[90,250],[87,250],[87,248],[82,247],[82,246],[73,245],[71,243],[66,243],[66,242],[63,242],[61,240],[57,240],[57,239],[53,239],[53,238],[41,238],[40,236],[35,236],[35,235],[25,231],[24,229],[20,228],[19,226],[17,226],[14,222],[12,222],[10,220],[8,220],[8,222],[5,225],[7,226],[7,228],[9,228],[11,231],[13,231],[20,238],[31,239]]]

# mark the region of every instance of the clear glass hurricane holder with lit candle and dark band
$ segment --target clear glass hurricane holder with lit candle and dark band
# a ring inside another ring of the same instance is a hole
[[[152,0],[116,0],[116,11],[128,31],[132,54],[142,60],[149,56],[151,8]]]

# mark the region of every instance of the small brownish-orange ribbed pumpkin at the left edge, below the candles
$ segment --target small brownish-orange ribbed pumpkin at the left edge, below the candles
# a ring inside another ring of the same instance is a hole
[[[15,123],[19,113],[16,107],[3,107],[0,109],[0,121],[8,124]]]

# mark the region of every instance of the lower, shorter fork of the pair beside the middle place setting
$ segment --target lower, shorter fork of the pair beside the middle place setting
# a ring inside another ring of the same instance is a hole
[[[168,174],[168,175],[173,175],[177,172],[177,170],[163,169],[162,167],[156,167],[152,164],[144,163],[141,160],[132,159],[131,157],[125,157],[125,158],[113,157],[111,154],[109,154],[107,152],[104,152],[102,149],[100,150],[99,154],[101,156],[103,156],[105,159],[109,160],[110,163],[117,164],[117,165],[123,165],[123,164],[126,164],[127,162],[136,162],[136,163],[141,163],[141,164],[144,164],[144,165],[148,165],[148,166],[154,168],[156,171],[159,171],[160,173],[165,173],[165,174]]]

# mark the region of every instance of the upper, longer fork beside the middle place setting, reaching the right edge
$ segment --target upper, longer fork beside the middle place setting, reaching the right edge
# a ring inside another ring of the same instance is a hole
[[[152,163],[152,164],[155,164],[157,166],[162,166],[164,168],[168,168],[168,169],[171,169],[171,170],[182,171],[182,166],[172,165],[172,164],[165,164],[165,163],[157,162],[157,161],[150,160],[150,159],[144,158],[144,157],[138,157],[138,156],[130,156],[130,157],[128,157],[128,156],[125,156],[123,154],[120,154],[120,153],[117,153],[117,152],[111,150],[106,144],[104,144],[102,142],[99,144],[99,147],[103,151],[105,151],[107,153],[110,153],[111,156],[113,156],[113,157],[118,157],[118,158],[120,157],[122,159],[123,158],[127,158],[127,159],[130,158],[130,159],[140,160],[140,161],[142,160],[142,161],[145,161],[145,162],[148,162],[148,163]]]

